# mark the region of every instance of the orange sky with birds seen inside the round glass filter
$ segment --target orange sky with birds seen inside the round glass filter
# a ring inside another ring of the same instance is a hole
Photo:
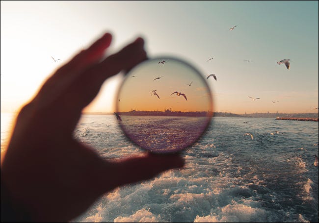
[[[162,60],[144,62],[127,75],[117,95],[117,112],[212,111],[211,93],[201,75],[176,59]]]

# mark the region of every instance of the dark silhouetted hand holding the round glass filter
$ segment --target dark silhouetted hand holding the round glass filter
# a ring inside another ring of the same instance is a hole
[[[1,210],[4,185],[17,221],[70,221],[118,186],[184,166],[178,154],[106,161],[74,139],[82,109],[106,78],[146,59],[144,41],[137,38],[102,60],[111,38],[106,33],[57,69],[21,109],[1,163]]]

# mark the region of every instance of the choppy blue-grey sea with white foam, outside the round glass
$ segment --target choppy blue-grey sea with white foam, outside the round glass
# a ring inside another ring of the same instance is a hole
[[[1,113],[1,154],[12,117]],[[145,152],[112,115],[83,115],[74,137],[110,160]],[[318,141],[318,122],[215,117],[184,168],[118,187],[72,222],[318,222]]]

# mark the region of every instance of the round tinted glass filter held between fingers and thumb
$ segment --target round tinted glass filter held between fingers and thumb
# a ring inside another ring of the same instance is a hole
[[[114,114],[127,137],[155,153],[192,145],[213,115],[206,79],[189,63],[172,57],[149,59],[134,67],[117,97]]]

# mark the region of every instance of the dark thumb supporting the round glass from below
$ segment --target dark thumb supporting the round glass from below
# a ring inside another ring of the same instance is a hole
[[[105,166],[103,175],[111,174],[112,180],[106,177],[102,178],[102,188],[105,192],[109,187],[112,189],[128,183],[148,180],[163,171],[182,168],[184,165],[185,160],[180,154],[157,155],[148,153],[142,157],[128,158],[120,163]]]

